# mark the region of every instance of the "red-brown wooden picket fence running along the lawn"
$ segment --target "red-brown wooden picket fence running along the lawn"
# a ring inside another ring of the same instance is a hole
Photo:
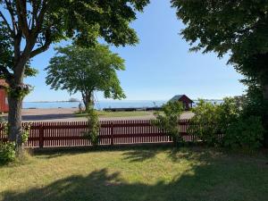
[[[25,126],[27,123],[23,123]],[[28,123],[29,124],[29,123]],[[139,143],[168,143],[172,138],[159,129],[152,121],[100,121],[99,145],[121,145]],[[186,141],[193,141],[195,136],[188,135],[188,120],[180,120],[180,132]],[[30,123],[27,147],[79,147],[90,146],[91,141],[85,138],[88,132],[87,121],[65,122],[32,122]],[[3,125],[0,125],[0,139],[4,136]]]

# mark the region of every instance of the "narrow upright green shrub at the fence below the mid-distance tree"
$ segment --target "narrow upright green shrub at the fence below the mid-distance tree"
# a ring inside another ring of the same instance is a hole
[[[100,129],[98,116],[92,105],[88,107],[87,113],[88,113],[89,132],[87,132],[85,136],[86,138],[89,138],[91,140],[93,146],[97,146],[99,139],[99,129]]]

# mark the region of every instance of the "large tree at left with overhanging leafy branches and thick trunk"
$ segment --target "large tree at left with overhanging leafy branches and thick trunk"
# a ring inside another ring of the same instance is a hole
[[[104,38],[115,46],[138,42],[129,27],[149,0],[0,0],[0,74],[10,85],[9,139],[21,150],[21,105],[30,59],[63,39],[81,46]]]

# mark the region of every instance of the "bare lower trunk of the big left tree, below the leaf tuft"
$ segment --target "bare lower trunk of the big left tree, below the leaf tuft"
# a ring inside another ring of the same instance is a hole
[[[8,113],[8,138],[15,142],[16,154],[19,156],[22,153],[23,145],[21,138],[21,109],[22,98],[8,96],[9,113]]]

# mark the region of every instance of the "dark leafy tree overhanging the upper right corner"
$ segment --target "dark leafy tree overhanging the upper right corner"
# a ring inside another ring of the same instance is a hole
[[[172,0],[178,17],[186,25],[180,34],[191,50],[230,54],[229,63],[259,86],[268,102],[268,2],[263,0]],[[264,111],[268,130],[268,111]],[[266,133],[268,145],[268,132]]]

